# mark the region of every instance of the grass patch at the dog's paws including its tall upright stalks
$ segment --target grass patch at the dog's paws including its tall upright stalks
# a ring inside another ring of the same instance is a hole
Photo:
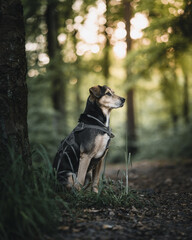
[[[75,188],[60,193],[61,198],[67,203],[68,209],[71,211],[73,220],[83,213],[87,208],[137,208],[149,204],[141,195],[129,187],[128,171],[129,165],[132,165],[131,154],[125,151],[125,172],[121,179],[116,180],[105,177],[106,160],[104,161],[104,170],[101,175],[98,194],[91,189],[82,189],[77,191]]]

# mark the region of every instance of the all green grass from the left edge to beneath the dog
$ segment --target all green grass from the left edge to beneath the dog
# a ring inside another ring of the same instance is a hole
[[[44,234],[57,230],[66,213],[75,219],[85,208],[143,204],[135,191],[127,193],[122,179],[104,176],[98,194],[89,189],[60,191],[45,149],[36,148],[32,156],[30,168],[12,150],[8,162],[1,159],[0,239],[43,239]]]

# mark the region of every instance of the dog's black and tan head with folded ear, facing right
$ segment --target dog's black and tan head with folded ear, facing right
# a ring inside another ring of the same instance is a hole
[[[107,86],[95,86],[89,89],[90,101],[96,101],[101,108],[107,108],[109,110],[113,108],[122,107],[125,99],[117,96],[114,91],[112,91]]]

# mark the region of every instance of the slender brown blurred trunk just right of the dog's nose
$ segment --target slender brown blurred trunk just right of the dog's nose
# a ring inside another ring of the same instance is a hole
[[[131,31],[131,17],[132,10],[130,1],[124,0],[125,6],[125,24],[126,24],[126,42],[127,42],[127,54],[131,51],[132,48],[132,39],[130,36]],[[127,68],[127,81],[131,72],[129,68]],[[128,144],[128,152],[134,154],[137,151],[136,147],[136,134],[135,134],[135,114],[134,114],[134,89],[128,89],[127,91],[127,144]]]

